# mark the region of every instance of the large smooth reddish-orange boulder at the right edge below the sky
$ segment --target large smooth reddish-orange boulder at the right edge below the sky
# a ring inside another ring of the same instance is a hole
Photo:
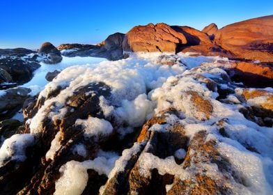
[[[224,26],[214,41],[237,58],[272,62],[273,15]]]

